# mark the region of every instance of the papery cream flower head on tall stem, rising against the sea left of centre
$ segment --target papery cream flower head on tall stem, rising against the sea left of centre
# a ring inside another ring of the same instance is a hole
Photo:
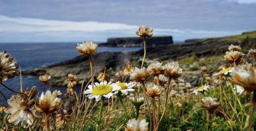
[[[83,41],[82,44],[77,43],[76,50],[79,52],[82,56],[88,56],[95,54],[97,51],[98,45],[91,42]]]

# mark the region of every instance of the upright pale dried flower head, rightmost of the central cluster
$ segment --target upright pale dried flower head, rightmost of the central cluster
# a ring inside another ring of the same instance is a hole
[[[167,77],[174,78],[175,80],[177,80],[182,74],[182,69],[179,67],[178,62],[169,62],[164,65],[164,68],[164,74]]]

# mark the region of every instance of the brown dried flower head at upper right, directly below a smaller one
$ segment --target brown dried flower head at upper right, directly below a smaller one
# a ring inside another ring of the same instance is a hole
[[[244,63],[244,54],[239,52],[239,51],[227,51],[224,58],[226,60],[226,62],[228,62],[229,64],[233,65],[239,65]]]

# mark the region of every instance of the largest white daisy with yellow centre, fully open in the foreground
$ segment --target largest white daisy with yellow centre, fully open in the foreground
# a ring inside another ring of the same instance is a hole
[[[118,86],[118,84],[112,82],[94,83],[94,88],[92,84],[89,85],[88,88],[89,89],[84,91],[83,94],[90,94],[88,95],[88,98],[95,98],[96,101],[99,101],[102,96],[110,98],[115,94],[113,92],[121,89],[121,87]]]

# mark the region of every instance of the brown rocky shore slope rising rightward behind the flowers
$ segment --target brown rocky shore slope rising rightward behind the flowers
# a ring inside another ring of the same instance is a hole
[[[147,48],[147,55],[145,65],[156,60],[179,60],[184,57],[196,55],[197,57],[207,57],[212,55],[223,55],[227,51],[230,44],[240,45],[242,51],[246,52],[250,48],[256,48],[256,38],[246,38],[243,41],[228,41],[224,39],[203,39],[194,42],[186,42],[181,44],[172,44],[162,47]],[[108,57],[106,57],[108,56]],[[127,61],[131,61],[132,66],[140,67],[141,58],[143,56],[143,49],[136,52],[120,51],[116,53],[102,52],[93,55],[93,60],[96,67],[108,68],[108,73],[114,76],[114,73],[123,70]],[[90,65],[87,57],[78,56],[72,60],[54,64],[48,67],[40,67],[33,70],[24,71],[23,74],[42,75],[50,74],[54,78],[53,86],[66,86],[66,79],[69,73],[76,74],[79,84],[82,83],[84,76],[89,73]],[[103,68],[97,68],[97,74],[102,72]],[[97,76],[96,74],[96,76]],[[199,73],[200,74],[200,73]],[[189,81],[198,80],[197,76],[189,77]],[[87,79],[89,80],[89,78]]]

